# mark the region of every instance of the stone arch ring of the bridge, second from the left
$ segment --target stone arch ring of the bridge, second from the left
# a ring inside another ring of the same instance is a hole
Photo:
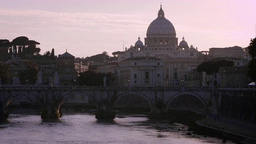
[[[87,96],[90,100],[92,100],[92,102],[94,102],[96,108],[98,108],[97,100],[95,99],[94,96],[92,96],[92,94],[89,94],[88,92],[84,92],[84,91],[76,92],[76,94],[69,92],[67,94],[63,94],[63,96],[59,99],[59,102],[57,103],[58,112],[60,111],[60,106],[63,104],[63,102],[65,102],[66,100],[68,100],[68,98],[71,98],[72,96]]]

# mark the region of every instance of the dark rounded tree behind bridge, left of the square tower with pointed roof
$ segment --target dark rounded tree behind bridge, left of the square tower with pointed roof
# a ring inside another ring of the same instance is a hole
[[[20,84],[35,84],[37,74],[39,72],[38,66],[32,60],[26,63],[26,70],[20,71],[18,77],[20,78]]]

